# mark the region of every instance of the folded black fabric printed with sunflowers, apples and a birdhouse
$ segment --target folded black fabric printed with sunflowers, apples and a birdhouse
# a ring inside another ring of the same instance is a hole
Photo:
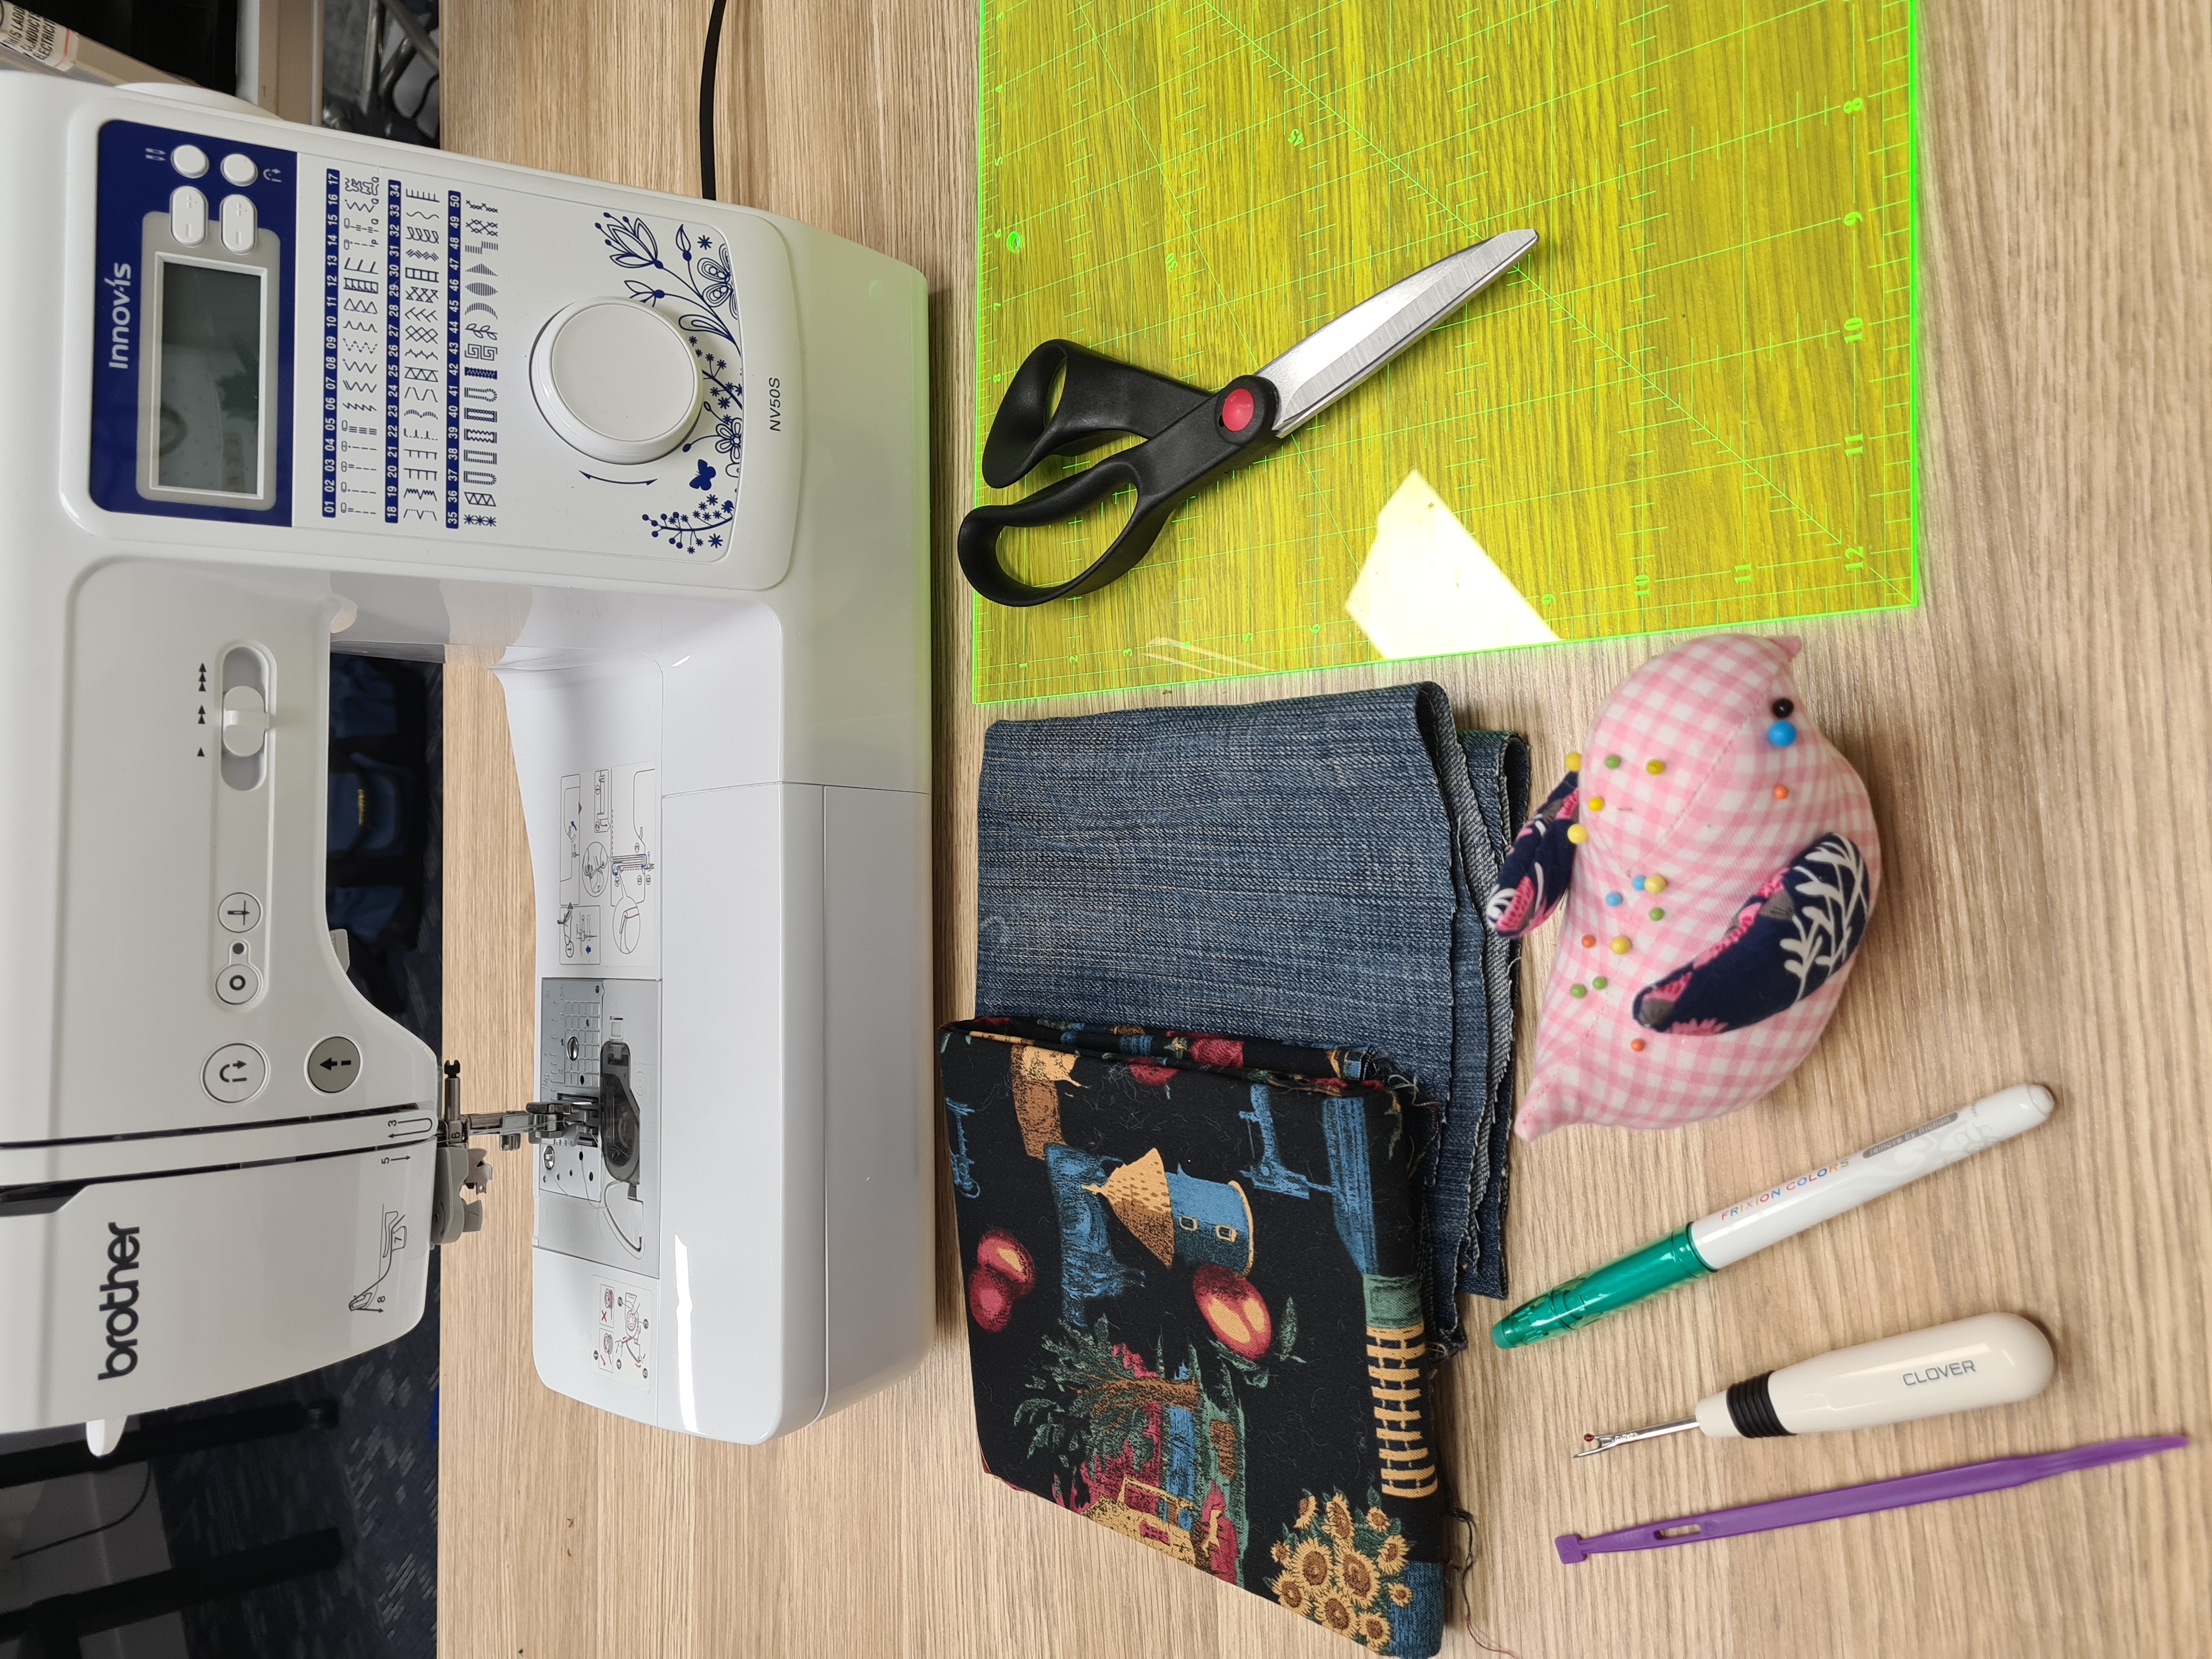
[[[1000,1480],[1374,1652],[1442,1644],[1413,1141],[1378,1055],[938,1033]]]

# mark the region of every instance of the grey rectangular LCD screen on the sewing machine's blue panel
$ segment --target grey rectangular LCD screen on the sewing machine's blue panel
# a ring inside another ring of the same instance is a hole
[[[164,489],[261,493],[259,270],[161,261]]]

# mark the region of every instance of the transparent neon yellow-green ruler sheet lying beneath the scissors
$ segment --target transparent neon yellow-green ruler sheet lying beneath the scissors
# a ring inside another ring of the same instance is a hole
[[[978,701],[1376,661],[1411,473],[1559,639],[1913,604],[1911,0],[984,0],[980,84],[978,436],[1040,341],[1217,387],[1542,243],[1124,582],[978,599]]]

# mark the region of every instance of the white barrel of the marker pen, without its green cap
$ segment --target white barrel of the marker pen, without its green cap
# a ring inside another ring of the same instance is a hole
[[[1690,1243],[1708,1267],[1743,1261],[1770,1243],[2035,1128],[2051,1117],[2051,1091],[2042,1084],[2000,1088],[1933,1124],[1891,1135],[1863,1152],[1714,1210],[1690,1223]]]

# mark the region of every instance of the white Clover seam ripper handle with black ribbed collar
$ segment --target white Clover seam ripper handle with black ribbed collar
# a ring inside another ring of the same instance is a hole
[[[1714,1440],[1869,1429],[2033,1400],[2051,1371],[2051,1343],[2028,1321],[1975,1314],[1745,1378],[1699,1400],[1697,1427]]]

